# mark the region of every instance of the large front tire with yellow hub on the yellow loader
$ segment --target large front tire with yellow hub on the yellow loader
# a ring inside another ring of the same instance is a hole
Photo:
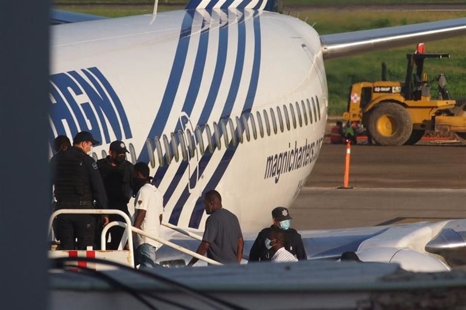
[[[394,102],[379,103],[370,112],[367,123],[372,140],[383,146],[403,145],[413,131],[408,112]]]

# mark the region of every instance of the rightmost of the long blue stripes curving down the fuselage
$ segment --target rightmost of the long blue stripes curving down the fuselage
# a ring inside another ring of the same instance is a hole
[[[252,105],[254,104],[254,99],[257,93],[257,87],[258,87],[258,82],[259,82],[260,67],[261,67],[261,55],[262,55],[261,47],[262,47],[261,23],[260,23],[260,16],[257,16],[256,18],[254,18],[254,62],[252,64],[251,80],[250,80],[248,95],[246,96],[246,101],[243,107],[243,111],[250,110],[252,108]],[[247,115],[246,117],[249,118],[249,115]],[[242,128],[242,131],[244,131],[244,128]],[[230,144],[228,150],[223,155],[222,159],[220,160],[220,163],[218,164],[214,172],[214,175],[210,179],[209,183],[207,183],[207,186],[205,186],[201,197],[196,202],[196,205],[191,214],[191,218],[189,220],[189,227],[199,228],[200,220],[202,219],[202,214],[204,213],[204,205],[202,202],[202,197],[207,191],[211,189],[215,189],[217,187],[223,174],[227,170],[228,165],[230,164],[231,159],[233,158],[233,155],[236,152],[238,146],[239,146],[239,142],[238,144],[236,144],[236,146],[232,146],[232,144]]]

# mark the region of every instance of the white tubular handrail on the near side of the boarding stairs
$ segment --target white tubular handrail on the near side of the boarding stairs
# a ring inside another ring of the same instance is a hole
[[[203,255],[200,255],[194,251],[191,251],[187,248],[183,248],[177,244],[174,244],[170,241],[166,241],[164,239],[160,239],[159,237],[157,236],[154,236],[150,233],[146,233],[145,231],[143,230],[140,230],[136,227],[133,227],[131,225],[131,221],[130,221],[130,218],[128,217],[128,215],[126,213],[124,213],[123,211],[120,211],[120,210],[112,210],[112,209],[60,209],[60,210],[57,210],[55,212],[52,213],[52,215],[50,216],[50,221],[49,221],[49,232],[51,230],[51,227],[52,227],[52,223],[53,223],[53,220],[55,219],[55,217],[57,217],[58,215],[60,214],[116,214],[116,215],[119,215],[121,217],[123,217],[125,219],[125,222],[126,223],[123,223],[123,222],[120,222],[120,221],[113,221],[112,223],[109,223],[107,224],[103,230],[102,230],[102,233],[100,235],[100,240],[101,240],[101,247],[103,250],[105,250],[106,248],[106,240],[105,240],[105,235],[108,231],[109,228],[113,227],[113,226],[121,226],[121,227],[126,227],[127,228],[127,231],[128,231],[128,247],[130,248],[130,252],[131,252],[131,258],[130,258],[130,264],[132,266],[134,266],[134,255],[133,255],[133,232],[134,233],[139,233],[139,234],[142,234],[143,236],[146,236],[152,240],[155,240],[163,245],[166,245],[167,247],[170,247],[170,248],[173,248],[175,250],[178,250],[184,254],[187,254],[187,255],[190,255],[190,256],[193,256],[193,257],[196,257],[197,259],[201,260],[201,261],[204,261],[206,263],[210,263],[210,264],[213,264],[213,265],[222,265],[222,263],[218,263],[217,261],[214,261],[210,258],[207,258]],[[110,224],[112,224],[112,226],[109,226]],[[109,226],[109,227],[107,227]],[[199,236],[198,236],[199,237]],[[103,240],[103,241],[102,241]]]

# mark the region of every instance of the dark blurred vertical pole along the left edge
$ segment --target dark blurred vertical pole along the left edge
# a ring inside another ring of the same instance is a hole
[[[1,309],[47,308],[49,1],[0,1]]]

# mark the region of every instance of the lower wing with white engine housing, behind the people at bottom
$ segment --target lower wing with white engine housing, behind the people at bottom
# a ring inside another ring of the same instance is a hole
[[[309,260],[336,261],[344,252],[355,252],[363,262],[399,263],[403,269],[416,272],[447,271],[466,264],[466,219],[299,233]],[[171,242],[194,251],[200,243],[173,231],[164,234]],[[244,234],[243,263],[247,263],[256,236]],[[172,248],[157,250],[157,262],[165,266],[180,266],[189,260],[188,255]]]

